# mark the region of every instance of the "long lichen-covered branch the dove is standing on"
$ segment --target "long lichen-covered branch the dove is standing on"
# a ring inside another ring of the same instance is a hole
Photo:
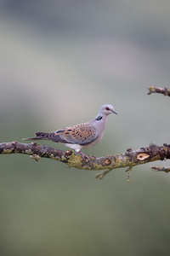
[[[111,156],[94,157],[90,156],[89,160],[83,160],[80,155],[74,154],[73,151],[62,151],[56,148],[50,148],[46,145],[37,143],[0,143],[0,154],[29,154],[34,160],[40,160],[42,157],[52,160],[59,160],[66,163],[69,167],[84,170],[103,170],[96,174],[96,178],[103,178],[105,174],[116,168],[128,167],[130,171],[133,166],[142,165],[156,160],[170,159],[170,145],[163,144],[156,146],[150,144],[149,147],[132,150],[127,148],[124,154],[114,154]],[[155,168],[154,168],[155,169]],[[156,171],[163,171],[157,169]],[[166,172],[166,171],[165,171]]]

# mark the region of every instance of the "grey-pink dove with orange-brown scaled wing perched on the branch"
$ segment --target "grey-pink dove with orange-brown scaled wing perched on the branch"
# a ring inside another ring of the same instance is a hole
[[[74,149],[82,158],[88,158],[81,152],[82,148],[90,148],[99,143],[105,131],[107,116],[116,113],[113,106],[107,104],[99,109],[95,119],[88,123],[73,125],[53,132],[36,132],[36,137],[23,140],[50,140],[54,143],[64,143],[65,146]],[[116,113],[117,114],[117,113]]]

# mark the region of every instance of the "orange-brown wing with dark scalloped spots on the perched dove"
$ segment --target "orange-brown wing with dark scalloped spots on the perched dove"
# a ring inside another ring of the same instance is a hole
[[[64,143],[86,145],[98,137],[98,131],[92,124],[81,124],[54,131],[54,137],[60,137]],[[54,139],[53,137],[53,139]]]

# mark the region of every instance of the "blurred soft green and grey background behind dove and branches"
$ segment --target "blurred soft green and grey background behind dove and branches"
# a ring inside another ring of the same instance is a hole
[[[0,2],[0,141],[94,119],[110,103],[105,136],[84,154],[169,143],[169,1]],[[66,149],[50,142],[49,146]],[[0,253],[169,255],[169,184],[150,166],[102,181],[95,172],[1,155]]]

